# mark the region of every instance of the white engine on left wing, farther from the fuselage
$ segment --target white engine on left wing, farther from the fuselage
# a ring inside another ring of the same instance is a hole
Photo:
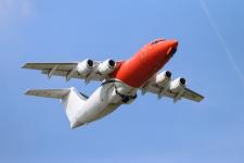
[[[77,72],[84,75],[91,73],[93,68],[94,68],[94,62],[89,59],[78,63],[77,65]]]

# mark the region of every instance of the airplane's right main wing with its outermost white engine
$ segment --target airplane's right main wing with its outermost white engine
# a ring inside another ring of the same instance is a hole
[[[200,102],[204,99],[204,97],[189,88],[187,88],[184,85],[178,84],[180,83],[180,78],[177,78],[172,82],[165,83],[164,86],[159,86],[156,84],[155,80],[149,82],[146,85],[144,85],[141,89],[142,92],[152,92],[160,97],[168,97],[174,99],[174,102],[177,102],[181,98],[192,100],[195,102]]]

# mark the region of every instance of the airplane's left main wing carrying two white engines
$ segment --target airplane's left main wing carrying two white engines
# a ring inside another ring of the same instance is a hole
[[[107,72],[104,71],[104,73],[100,72],[100,65],[104,65],[103,70],[106,70],[106,61],[92,61],[92,68],[90,70],[87,68],[87,61],[89,60],[72,63],[26,63],[23,68],[41,71],[41,73],[48,75],[49,78],[54,75],[65,77],[66,80],[69,80],[70,78],[86,79],[87,83],[90,80],[100,82],[110,77],[108,75],[112,73],[112,70],[108,70]],[[123,61],[115,62],[115,67],[113,67],[113,71],[118,68],[121,63]],[[81,65],[81,70],[78,68],[78,65]]]

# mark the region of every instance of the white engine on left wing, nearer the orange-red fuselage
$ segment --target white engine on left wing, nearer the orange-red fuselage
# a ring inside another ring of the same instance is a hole
[[[114,60],[106,60],[99,65],[99,72],[102,75],[107,75],[112,73],[116,67],[116,62]]]

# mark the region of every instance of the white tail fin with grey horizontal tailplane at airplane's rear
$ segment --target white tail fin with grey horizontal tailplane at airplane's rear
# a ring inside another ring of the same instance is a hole
[[[88,97],[78,92],[74,87],[67,89],[30,89],[25,92],[28,96],[61,99],[65,105],[66,114],[73,128],[77,112],[82,108]]]

